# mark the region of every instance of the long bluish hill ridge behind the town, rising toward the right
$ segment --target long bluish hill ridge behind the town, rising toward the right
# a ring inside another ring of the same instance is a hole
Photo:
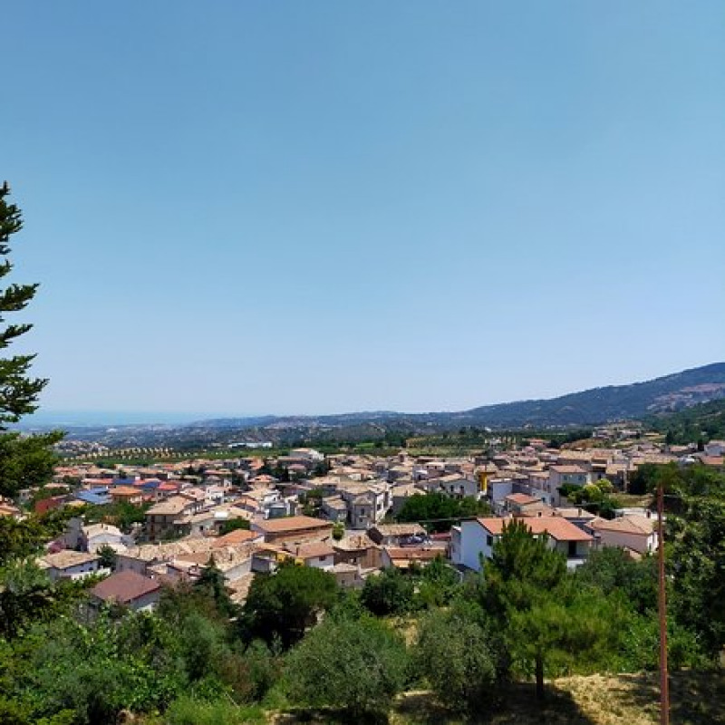
[[[710,401],[725,400],[725,362],[676,372],[646,382],[610,385],[548,400],[484,405],[468,411],[401,413],[363,411],[322,416],[259,416],[199,420],[183,426],[93,426],[69,429],[70,440],[111,447],[227,447],[247,441],[278,445],[333,444],[382,439],[392,434],[425,436],[464,426],[491,430],[566,429],[617,420],[660,420]],[[111,422],[111,421],[109,421]],[[38,430],[38,429],[36,429]]]

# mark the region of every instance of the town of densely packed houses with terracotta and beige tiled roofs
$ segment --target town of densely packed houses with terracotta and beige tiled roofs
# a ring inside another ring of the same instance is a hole
[[[722,471],[723,455],[722,440],[698,451],[636,439],[610,448],[551,449],[531,439],[457,459],[293,449],[274,459],[191,459],[136,469],[65,465],[42,491],[3,502],[0,516],[22,518],[29,505],[38,513],[63,508],[65,533],[47,542],[39,563],[53,579],[109,574],[93,590],[100,600],[152,608],[163,585],[193,582],[213,564],[241,604],[253,577],[285,560],[324,569],[353,588],[384,568],[404,571],[435,559],[461,575],[478,571],[514,519],[546,534],[570,568],[604,546],[642,557],[657,548],[649,507],[600,506],[597,515],[597,506],[582,502],[617,500],[647,464]],[[431,496],[475,501],[485,515],[401,520],[411,498]]]

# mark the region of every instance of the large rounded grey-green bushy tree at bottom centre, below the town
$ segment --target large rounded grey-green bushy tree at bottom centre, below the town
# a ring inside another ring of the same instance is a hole
[[[285,674],[293,701],[339,708],[362,722],[384,718],[408,665],[405,643],[385,623],[331,618],[290,653]]]

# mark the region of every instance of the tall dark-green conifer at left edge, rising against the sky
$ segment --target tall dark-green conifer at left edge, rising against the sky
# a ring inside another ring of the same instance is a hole
[[[7,201],[7,183],[0,187],[0,279],[13,271],[10,237],[23,227],[20,209]],[[0,289],[0,324],[5,315],[20,312],[30,303],[38,285],[10,284]],[[32,324],[7,324],[0,329],[0,350],[5,350]],[[43,483],[53,474],[55,456],[51,446],[63,438],[54,431],[45,435],[21,436],[7,432],[8,423],[16,423],[37,409],[37,399],[47,384],[42,378],[29,376],[35,355],[11,355],[0,359],[0,496],[14,498],[21,488]]]

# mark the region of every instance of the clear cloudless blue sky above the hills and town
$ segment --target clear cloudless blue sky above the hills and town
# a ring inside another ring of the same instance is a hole
[[[459,410],[725,359],[725,4],[6,5],[46,410]]]

